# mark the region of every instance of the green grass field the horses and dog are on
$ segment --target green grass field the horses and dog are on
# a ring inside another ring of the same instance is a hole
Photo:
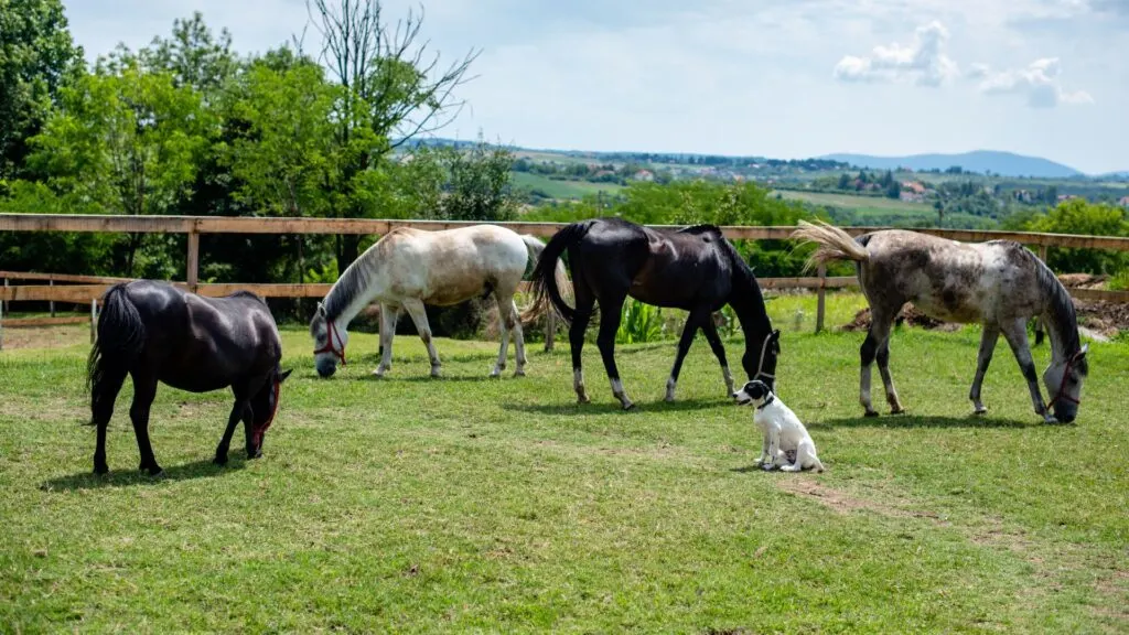
[[[829,323],[857,302],[837,296]],[[376,338],[355,334],[349,366],[324,381],[304,330],[287,328],[296,371],[263,459],[233,447],[213,467],[228,395],[163,386],[156,479],[135,471],[129,385],[111,473],[88,473],[80,329],[71,346],[5,350],[2,630],[1129,628],[1129,347],[1092,343],[1078,421],[1045,426],[1006,346],[984,383],[990,415],[972,418],[977,329],[899,330],[909,415],[866,419],[863,336],[790,330],[811,296],[770,306],[786,328],[780,395],[823,473],[752,468],[752,411],[723,394],[700,338],[671,405],[674,342],[620,347],[639,405],[623,412],[595,346],[594,401],[578,407],[566,342],[531,347],[528,376],[491,381],[496,342],[438,340],[446,377],[430,380],[422,345],[401,337],[374,380]],[[739,359],[741,342],[727,349]]]

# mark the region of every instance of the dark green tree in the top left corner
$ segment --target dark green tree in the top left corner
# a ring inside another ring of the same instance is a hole
[[[82,69],[61,0],[0,0],[0,182],[24,174],[27,139]]]

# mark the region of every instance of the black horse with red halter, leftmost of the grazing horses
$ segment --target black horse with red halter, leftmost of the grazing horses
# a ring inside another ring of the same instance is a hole
[[[157,382],[190,392],[231,386],[235,407],[216,463],[227,462],[235,426],[243,419],[247,458],[262,456],[263,435],[274,419],[282,343],[270,308],[261,297],[237,292],[227,297],[199,296],[167,282],[121,282],[103,296],[98,339],[87,362],[91,425],[97,428],[94,471],[106,473],[106,426],[114,401],[133,377],[130,419],[141,453],[141,470],[160,473],[149,443],[149,407]]]

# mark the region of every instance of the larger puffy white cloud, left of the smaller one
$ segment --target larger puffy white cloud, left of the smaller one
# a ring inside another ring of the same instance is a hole
[[[913,43],[903,46],[875,46],[867,58],[846,55],[835,64],[834,77],[840,81],[902,81],[919,86],[940,86],[960,75],[960,69],[945,54],[948,29],[939,21],[918,27]]]

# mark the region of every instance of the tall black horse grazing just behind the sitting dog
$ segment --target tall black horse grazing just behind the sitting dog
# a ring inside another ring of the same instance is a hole
[[[553,268],[568,251],[576,295],[576,310],[564,304]],[[714,225],[695,225],[679,230],[657,230],[622,218],[595,218],[566,226],[558,232],[542,253],[532,273],[534,310],[548,299],[561,318],[571,323],[569,342],[572,348],[572,382],[579,402],[588,402],[580,367],[584,331],[592,319],[593,306],[599,303],[599,336],[596,345],[612,383],[612,393],[623,408],[632,407],[615,367],[615,332],[620,327],[620,310],[627,296],[640,302],[683,308],[690,312],[671,379],[666,382],[666,400],[674,400],[682,360],[690,350],[698,329],[714,349],[725,376],[727,393],[733,393],[733,376],[725,359],[725,347],[718,337],[712,313],[729,304],[745,333],[742,366],[750,380],[763,379],[772,386],[780,331],[764,311],[764,298],[756,277],[737,250]]]

